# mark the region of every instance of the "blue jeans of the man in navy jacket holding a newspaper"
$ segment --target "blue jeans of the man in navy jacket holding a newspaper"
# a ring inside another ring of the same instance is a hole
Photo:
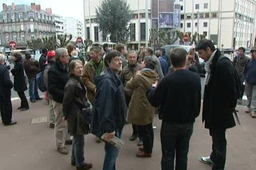
[[[116,130],[116,137],[121,139],[122,129]],[[119,149],[109,143],[105,143],[105,159],[103,163],[103,170],[116,170],[116,158],[118,156]]]

